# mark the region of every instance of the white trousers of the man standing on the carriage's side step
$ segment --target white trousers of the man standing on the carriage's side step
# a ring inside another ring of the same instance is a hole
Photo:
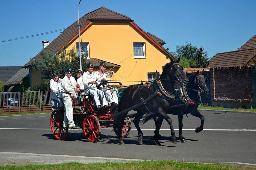
[[[72,125],[75,126],[75,122],[73,120],[73,108],[72,108],[72,100],[69,96],[62,96],[63,103],[64,103],[64,121],[63,124],[66,126]]]

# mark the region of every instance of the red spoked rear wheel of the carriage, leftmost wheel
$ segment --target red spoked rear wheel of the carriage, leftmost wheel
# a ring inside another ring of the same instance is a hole
[[[68,134],[68,128],[63,127],[64,117],[58,110],[53,110],[50,118],[50,124],[54,137],[63,140]]]

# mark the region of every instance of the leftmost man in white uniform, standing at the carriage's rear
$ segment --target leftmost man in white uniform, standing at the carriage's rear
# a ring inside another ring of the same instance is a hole
[[[57,71],[54,71],[52,74],[53,78],[50,81],[50,89],[51,89],[51,103],[52,103],[52,111],[55,110],[55,107],[63,107],[63,101],[60,95],[60,83],[61,78]]]

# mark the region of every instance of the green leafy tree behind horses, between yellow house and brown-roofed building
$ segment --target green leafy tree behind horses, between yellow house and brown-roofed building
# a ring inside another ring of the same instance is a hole
[[[208,53],[204,52],[202,46],[198,49],[197,46],[192,46],[191,43],[186,42],[185,45],[177,45],[176,51],[172,53],[176,57],[187,59],[191,68],[208,67]]]

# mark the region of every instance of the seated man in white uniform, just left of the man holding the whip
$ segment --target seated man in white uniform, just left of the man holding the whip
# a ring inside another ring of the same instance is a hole
[[[97,86],[96,86],[97,74],[92,72],[93,71],[92,63],[87,64],[87,70],[88,71],[85,72],[82,76],[82,81],[85,89],[84,93],[86,95],[90,94],[93,96],[93,99],[98,109],[102,107],[104,108],[109,107],[108,102],[106,101],[106,98],[103,95],[103,92],[99,89],[97,90]],[[100,105],[100,100],[98,98],[97,91],[98,91],[99,97],[101,98],[102,106]]]

